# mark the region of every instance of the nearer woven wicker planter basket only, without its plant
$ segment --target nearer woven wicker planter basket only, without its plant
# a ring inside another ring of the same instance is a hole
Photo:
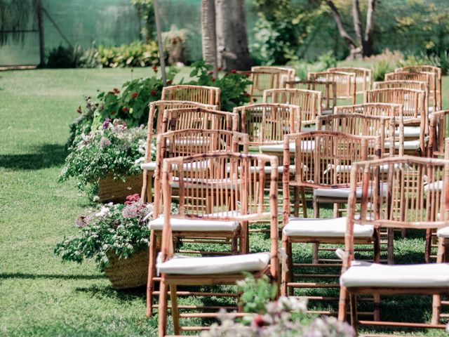
[[[145,286],[148,279],[148,250],[142,249],[130,258],[118,258],[115,253],[108,253],[109,267],[105,274],[115,289]]]

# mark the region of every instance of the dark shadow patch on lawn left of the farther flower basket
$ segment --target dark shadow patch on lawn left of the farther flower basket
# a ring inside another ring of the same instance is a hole
[[[2,154],[0,167],[11,170],[39,170],[64,163],[67,152],[64,145],[44,144],[27,154]]]

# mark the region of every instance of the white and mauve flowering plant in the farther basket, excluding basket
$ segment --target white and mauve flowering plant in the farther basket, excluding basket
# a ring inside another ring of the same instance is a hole
[[[71,152],[65,159],[60,181],[76,178],[77,187],[87,190],[93,198],[101,178],[113,174],[114,178],[123,179],[142,173],[140,163],[145,156],[147,139],[143,126],[128,128],[120,119],[105,119],[98,130],[81,133],[79,138],[79,142],[69,148]],[[152,159],[156,159],[155,151]]]

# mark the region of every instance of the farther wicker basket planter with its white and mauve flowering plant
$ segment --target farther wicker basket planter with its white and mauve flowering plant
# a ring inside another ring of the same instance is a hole
[[[60,181],[76,178],[77,187],[93,201],[123,202],[142,188],[147,132],[128,128],[121,119],[105,119],[100,128],[81,135],[70,147]],[[152,153],[152,160],[156,157]]]

